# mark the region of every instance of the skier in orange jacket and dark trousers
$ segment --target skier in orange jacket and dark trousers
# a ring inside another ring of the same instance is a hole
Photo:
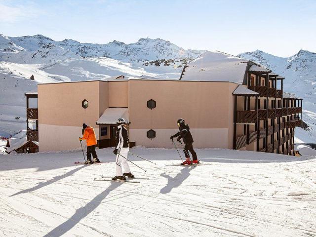
[[[86,140],[87,142],[87,161],[86,163],[93,164],[93,163],[100,163],[98,159],[97,153],[95,152],[95,147],[97,145],[97,139],[95,137],[93,127],[87,126],[85,123],[82,124],[84,133],[83,137],[80,137],[79,140]],[[91,153],[93,160],[91,160]]]

